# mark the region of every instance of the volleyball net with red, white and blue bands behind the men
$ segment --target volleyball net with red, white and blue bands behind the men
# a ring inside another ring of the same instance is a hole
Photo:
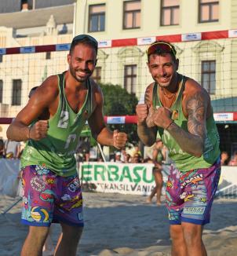
[[[152,82],[146,49],[157,39],[174,44],[179,72],[195,79],[210,93],[221,150],[231,154],[237,149],[237,38],[230,31],[100,41],[93,79],[122,86],[139,100]],[[39,86],[49,75],[67,70],[69,48],[70,43],[0,49],[0,136],[5,137],[5,124],[27,104],[32,87]],[[127,115],[106,120],[136,122],[132,113]]]

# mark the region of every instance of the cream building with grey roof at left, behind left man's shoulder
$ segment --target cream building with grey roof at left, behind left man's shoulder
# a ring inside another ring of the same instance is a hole
[[[15,6],[16,1],[12,3]],[[27,103],[32,87],[39,86],[49,75],[67,70],[68,51],[31,53],[31,46],[71,42],[75,31],[75,4],[53,7],[52,4],[53,1],[48,1],[46,8],[24,11],[13,8],[12,13],[0,13],[1,117],[15,117]],[[38,6],[36,1],[35,5]],[[1,11],[2,8],[1,2]],[[19,47],[25,47],[29,53],[14,54],[14,49]],[[6,49],[13,49],[13,54],[5,54]],[[5,137],[5,126],[0,127],[0,137]]]

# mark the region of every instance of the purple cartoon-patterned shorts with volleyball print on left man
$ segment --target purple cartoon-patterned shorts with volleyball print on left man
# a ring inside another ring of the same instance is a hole
[[[60,177],[43,166],[26,166],[22,173],[21,222],[50,226],[52,222],[83,226],[82,189],[78,174]]]

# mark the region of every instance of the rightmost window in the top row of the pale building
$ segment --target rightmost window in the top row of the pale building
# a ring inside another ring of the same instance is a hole
[[[199,0],[199,23],[218,21],[219,1]]]

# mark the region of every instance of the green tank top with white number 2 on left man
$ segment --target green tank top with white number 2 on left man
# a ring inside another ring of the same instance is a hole
[[[64,73],[58,76],[60,100],[57,112],[49,119],[47,137],[40,141],[28,140],[21,156],[21,166],[46,166],[60,176],[76,173],[75,150],[86,120],[92,113],[91,85],[86,82],[86,100],[78,113],[67,102],[64,91]]]

